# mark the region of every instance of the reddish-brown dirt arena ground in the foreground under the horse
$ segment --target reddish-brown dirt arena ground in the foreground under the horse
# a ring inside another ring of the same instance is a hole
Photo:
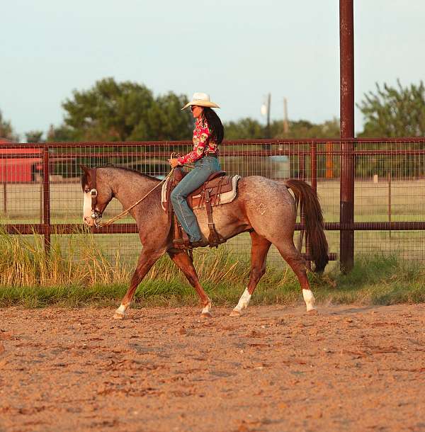
[[[425,431],[425,305],[8,308],[0,431]]]

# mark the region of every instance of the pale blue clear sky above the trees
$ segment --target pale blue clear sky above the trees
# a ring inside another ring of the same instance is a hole
[[[355,101],[425,78],[425,1],[354,0]],[[154,96],[210,94],[223,122],[339,118],[339,0],[13,0],[1,5],[0,110],[25,132],[60,125],[96,81]],[[356,132],[363,118],[356,108]]]

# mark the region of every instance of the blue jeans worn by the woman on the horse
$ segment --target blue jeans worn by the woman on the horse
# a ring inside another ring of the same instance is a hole
[[[195,168],[190,171],[171,192],[171,204],[181,227],[186,231],[190,241],[202,239],[198,220],[188,206],[188,195],[203,185],[207,178],[216,171],[220,171],[220,161],[216,157],[204,156],[195,162]]]

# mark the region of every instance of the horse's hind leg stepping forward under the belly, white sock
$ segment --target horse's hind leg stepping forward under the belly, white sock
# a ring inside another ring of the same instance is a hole
[[[251,295],[254,292],[256,285],[262,278],[263,274],[266,273],[266,258],[268,249],[270,249],[271,242],[261,237],[255,231],[251,232],[251,272],[249,273],[249,283],[242,297],[239,299],[238,304],[232,312],[230,317],[240,317],[242,309],[246,309],[251,300]]]

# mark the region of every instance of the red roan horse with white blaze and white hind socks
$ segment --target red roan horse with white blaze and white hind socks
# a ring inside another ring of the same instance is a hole
[[[210,317],[211,300],[199,283],[191,256],[186,251],[173,248],[172,229],[169,218],[162,210],[159,180],[131,169],[105,166],[89,169],[81,166],[81,186],[84,192],[83,220],[93,226],[101,217],[108,203],[116,198],[127,209],[149,193],[145,200],[136,205],[130,214],[137,222],[142,252],[137,268],[132,275],[130,287],[125,293],[114,318],[122,319],[130,306],[137,285],[140,284],[157,259],[169,254],[196,289],[203,309],[202,317]],[[288,188],[293,191],[291,195]],[[95,191],[94,191],[95,190]],[[97,191],[97,193],[96,193]],[[305,260],[295,248],[293,234],[297,215],[297,203],[305,217],[306,241],[310,244],[310,259],[315,270],[323,271],[328,262],[328,245],[323,231],[322,210],[316,193],[300,180],[277,182],[261,176],[249,176],[239,180],[237,197],[227,204],[214,208],[214,222],[217,232],[230,239],[242,232],[251,235],[251,273],[249,283],[240,297],[231,317],[239,317],[245,309],[257,283],[266,271],[266,256],[274,244],[283,259],[297,275],[307,312],[314,311],[314,295],[307,280]],[[205,210],[194,210],[203,237],[208,239],[208,219]],[[94,216],[93,216],[94,215]]]

